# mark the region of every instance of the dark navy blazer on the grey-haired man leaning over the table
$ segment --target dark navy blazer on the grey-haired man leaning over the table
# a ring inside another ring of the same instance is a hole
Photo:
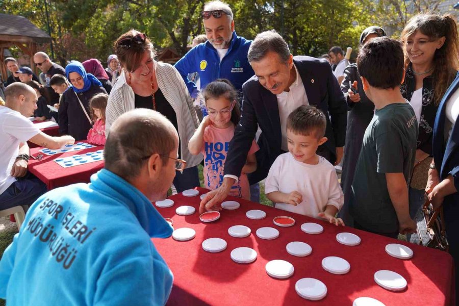
[[[347,104],[340,85],[325,60],[295,56],[293,63],[300,74],[309,104],[325,114],[325,137],[328,140],[323,146],[336,155],[335,147],[344,146],[347,124]],[[230,142],[224,174],[241,174],[247,152],[260,125],[262,134],[258,140],[260,150],[256,154],[257,170],[248,175],[250,184],[254,184],[265,179],[274,160],[281,154],[281,119],[276,95],[264,88],[256,75],[244,83],[242,94],[241,121]]]

